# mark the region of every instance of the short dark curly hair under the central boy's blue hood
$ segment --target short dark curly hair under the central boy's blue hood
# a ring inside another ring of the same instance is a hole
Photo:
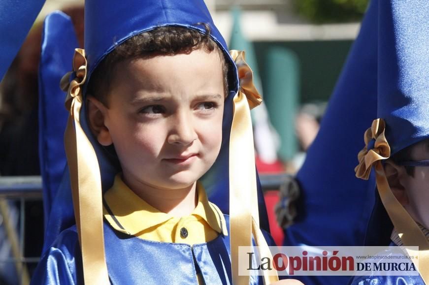
[[[210,27],[200,24],[205,33],[183,27],[165,26],[137,34],[118,45],[108,54],[91,75],[88,92],[108,106],[107,94],[112,81],[115,65],[127,59],[148,59],[159,55],[173,56],[189,54],[194,50],[203,49],[207,53],[216,51],[219,54],[224,76],[224,92],[228,94],[228,62],[221,48],[210,37]]]

